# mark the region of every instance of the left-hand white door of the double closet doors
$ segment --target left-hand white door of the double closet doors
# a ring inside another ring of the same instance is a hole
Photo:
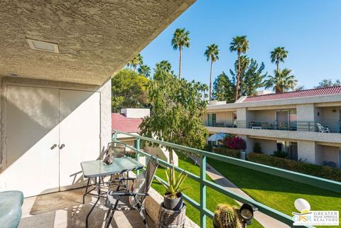
[[[7,86],[6,170],[0,187],[25,197],[59,190],[59,90]]]

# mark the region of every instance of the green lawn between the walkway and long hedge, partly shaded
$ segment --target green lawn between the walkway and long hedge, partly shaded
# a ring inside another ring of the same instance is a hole
[[[297,198],[308,200],[311,210],[338,210],[341,212],[341,194],[311,185],[261,173],[237,165],[207,158],[227,179],[247,192],[254,200],[273,207],[287,215],[296,212],[293,202]]]

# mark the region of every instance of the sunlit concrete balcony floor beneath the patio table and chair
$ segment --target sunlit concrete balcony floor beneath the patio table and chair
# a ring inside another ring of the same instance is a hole
[[[82,204],[85,188],[54,192],[23,200],[23,215],[19,228],[73,228],[85,227],[85,217],[90,211],[96,197],[87,195]],[[104,227],[107,209],[101,198],[90,215],[90,228]],[[152,222],[149,227],[153,228]],[[138,211],[117,211],[112,219],[112,228],[144,228],[144,222]]]

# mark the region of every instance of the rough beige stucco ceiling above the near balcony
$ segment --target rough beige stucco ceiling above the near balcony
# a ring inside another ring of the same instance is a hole
[[[194,1],[0,1],[0,76],[102,85]],[[32,50],[26,38],[60,53]]]

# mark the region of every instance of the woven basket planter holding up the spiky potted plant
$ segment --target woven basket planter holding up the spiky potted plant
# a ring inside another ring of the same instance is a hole
[[[168,210],[163,207],[163,203],[160,205],[158,211],[158,224],[156,228],[183,228],[185,226],[186,217],[186,205],[180,210]]]

